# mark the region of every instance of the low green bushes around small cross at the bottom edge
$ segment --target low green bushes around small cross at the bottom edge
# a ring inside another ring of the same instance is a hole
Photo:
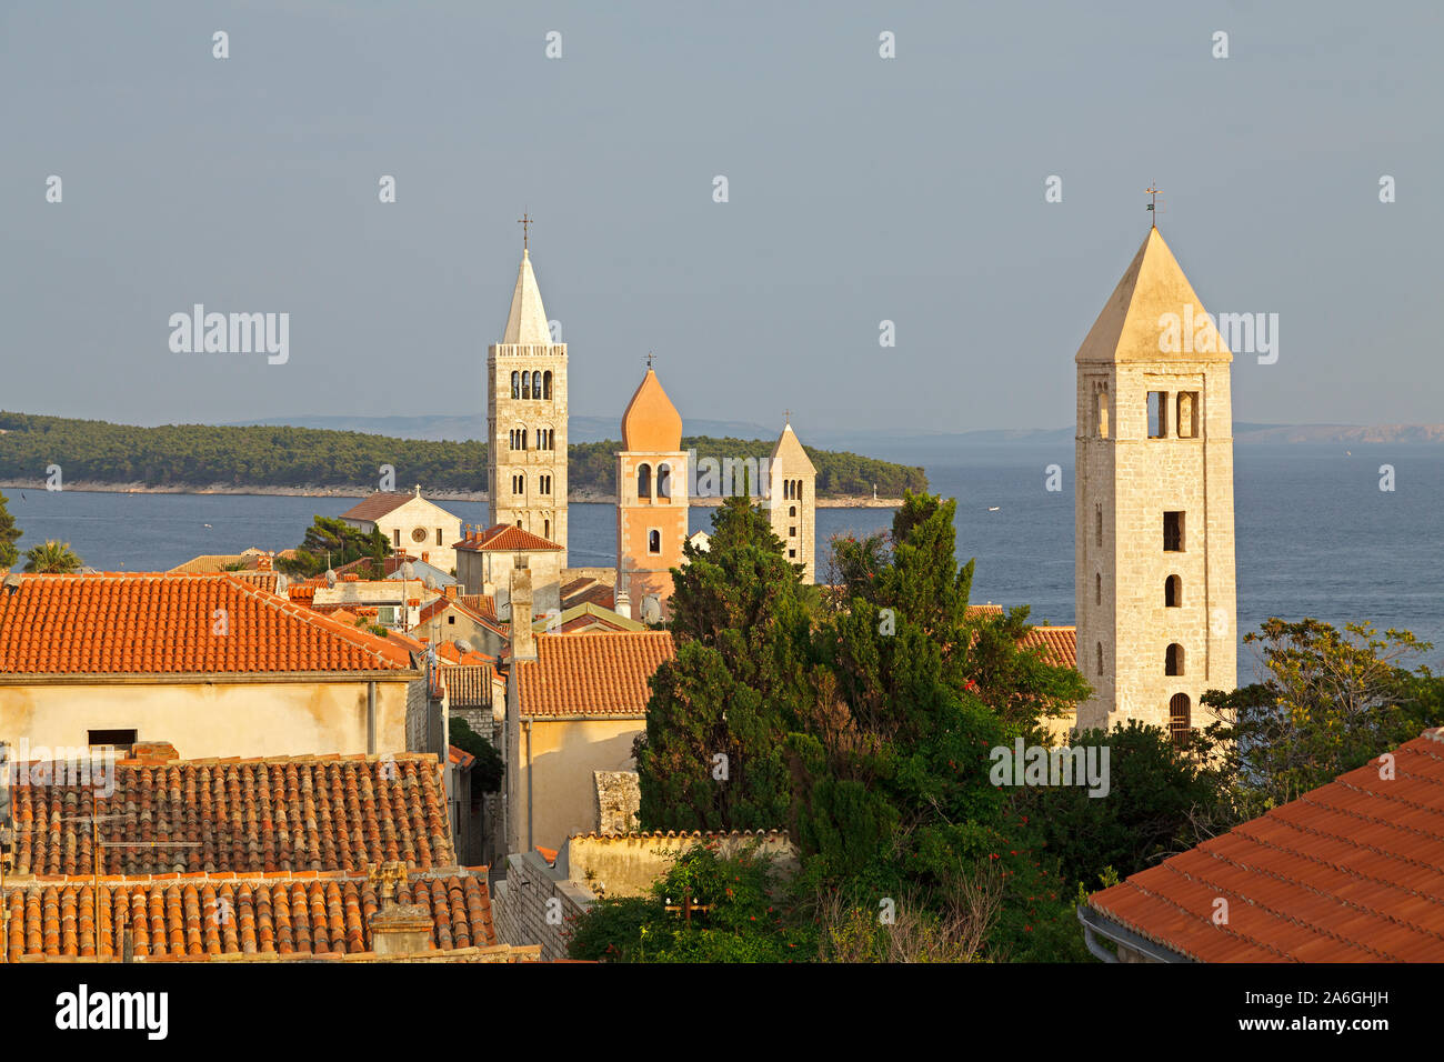
[[[722,858],[716,841],[680,852],[651,896],[593,903],[567,945],[572,958],[611,962],[801,962],[814,952],[814,929],[771,861],[755,845]]]

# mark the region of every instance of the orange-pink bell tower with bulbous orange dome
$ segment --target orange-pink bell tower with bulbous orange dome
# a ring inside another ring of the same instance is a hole
[[[648,366],[622,413],[617,454],[615,608],[622,616],[656,623],[670,614],[670,569],[682,566],[687,504],[682,415]]]

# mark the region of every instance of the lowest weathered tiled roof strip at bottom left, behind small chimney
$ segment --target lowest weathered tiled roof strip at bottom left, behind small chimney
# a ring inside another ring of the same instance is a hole
[[[485,876],[412,877],[399,903],[426,907],[438,949],[497,944]],[[10,962],[23,955],[116,958],[131,929],[137,958],[309,955],[371,951],[378,909],[370,881],[297,874],[267,878],[33,881],[6,889]]]

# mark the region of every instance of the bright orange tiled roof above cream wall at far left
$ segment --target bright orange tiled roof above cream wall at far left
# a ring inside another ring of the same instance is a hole
[[[386,639],[230,575],[22,575],[19,590],[0,591],[0,673],[409,668]]]

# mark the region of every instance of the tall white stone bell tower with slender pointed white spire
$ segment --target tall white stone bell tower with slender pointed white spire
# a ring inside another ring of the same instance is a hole
[[[487,494],[491,522],[562,546],[566,566],[566,344],[552,342],[523,249],[501,342],[487,351]]]

